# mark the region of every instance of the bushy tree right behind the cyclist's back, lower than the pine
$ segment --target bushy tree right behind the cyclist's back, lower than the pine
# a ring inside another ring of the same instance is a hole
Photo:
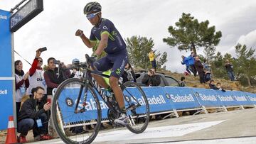
[[[134,35],[131,38],[126,38],[125,41],[127,43],[129,62],[134,65],[134,67],[142,67],[144,69],[151,67],[148,54],[150,50],[154,48],[153,39]],[[167,62],[167,52],[161,54],[154,50],[154,54],[157,68],[160,68]]]

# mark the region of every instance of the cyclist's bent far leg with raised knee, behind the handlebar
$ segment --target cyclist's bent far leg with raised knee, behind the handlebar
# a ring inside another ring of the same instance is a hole
[[[105,72],[107,70],[110,70],[112,68],[112,63],[111,61],[106,57],[102,57],[100,60],[97,60],[96,62],[93,63],[94,69]],[[98,84],[100,84],[101,87],[107,89],[110,87],[103,77],[97,75],[97,74],[92,74],[92,77],[96,80]]]

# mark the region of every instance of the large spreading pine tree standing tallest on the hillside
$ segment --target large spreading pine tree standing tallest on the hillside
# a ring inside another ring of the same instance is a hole
[[[196,53],[200,47],[210,48],[218,45],[222,36],[220,31],[215,32],[215,26],[208,27],[209,21],[198,23],[190,13],[182,13],[175,26],[169,26],[170,37],[164,38],[164,43],[171,47],[178,46],[178,50],[191,50]]]

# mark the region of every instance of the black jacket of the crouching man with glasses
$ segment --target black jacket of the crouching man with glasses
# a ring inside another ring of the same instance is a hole
[[[41,113],[46,112],[43,109],[43,104],[45,103],[46,99],[42,99],[41,102],[37,102],[36,99],[33,99],[33,97],[27,99],[21,106],[21,111],[18,112],[18,121],[25,118],[37,119]],[[36,106],[38,106],[37,110]]]

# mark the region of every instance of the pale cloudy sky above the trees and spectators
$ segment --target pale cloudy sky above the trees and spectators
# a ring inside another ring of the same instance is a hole
[[[9,11],[21,0],[0,0],[0,9]],[[71,63],[74,58],[85,61],[85,54],[92,54],[75,31],[81,29],[90,36],[92,25],[83,14],[85,0],[44,0],[44,10],[14,33],[14,50],[28,62],[33,62],[38,48],[47,47],[42,52],[43,65],[47,65],[48,57]],[[230,53],[235,57],[234,46],[237,43],[256,48],[256,1],[247,0],[102,0],[102,17],[110,19],[122,38],[141,35],[153,38],[154,48],[167,52],[166,69],[171,72],[184,72],[181,55],[190,52],[179,51],[163,42],[169,36],[169,26],[174,26],[181,14],[191,13],[201,21],[210,21],[223,36],[216,50]],[[203,49],[198,50],[203,55]],[[15,60],[23,61],[23,70],[31,67],[20,56]]]

